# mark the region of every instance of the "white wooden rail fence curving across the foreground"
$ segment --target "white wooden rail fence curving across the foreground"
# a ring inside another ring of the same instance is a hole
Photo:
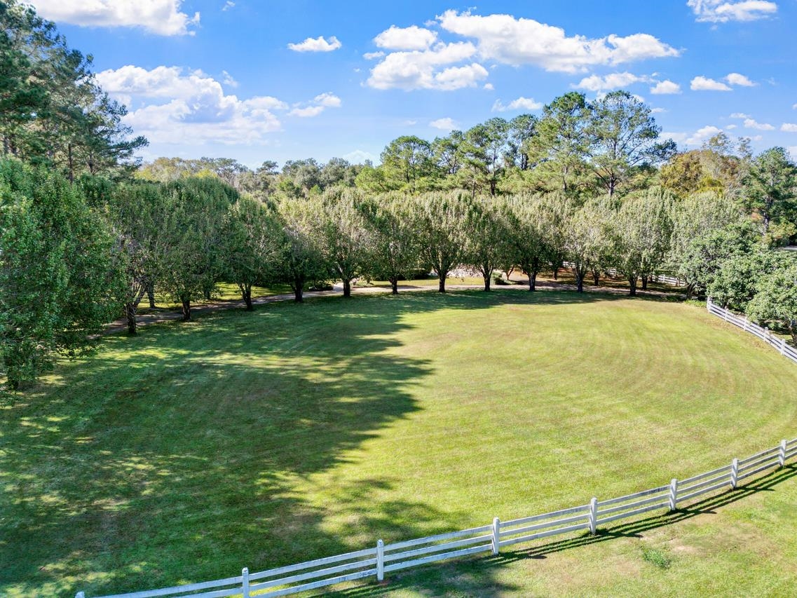
[[[352,553],[338,554],[297,565],[272,568],[250,573],[248,568],[240,576],[222,580],[205,581],[198,584],[175,586],[103,596],[103,598],[155,598],[155,596],[287,596],[345,581],[373,577],[383,581],[387,573],[400,569],[418,567],[436,561],[447,561],[473,554],[497,555],[505,547],[589,530],[595,534],[599,526],[612,521],[636,517],[642,513],[659,509],[674,511],[679,505],[693,501],[704,494],[733,490],[742,480],[766,470],[783,467],[788,459],[797,455],[797,439],[782,440],[777,447],[762,450],[748,458],[734,458],[728,465],[717,467],[705,474],[694,475],[683,480],[673,479],[665,486],[626,494],[619,498],[599,500],[593,498],[588,504],[570,507],[501,521],[498,517],[488,525],[463,529],[458,532],[441,533],[385,544],[382,540],[371,548]],[[77,592],[76,598],[87,598]]]

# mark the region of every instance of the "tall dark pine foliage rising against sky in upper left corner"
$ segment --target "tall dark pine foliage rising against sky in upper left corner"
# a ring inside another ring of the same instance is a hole
[[[2,154],[57,167],[70,180],[134,167],[147,140],[131,138],[127,108],[96,84],[91,57],[17,0],[0,4],[0,25]]]

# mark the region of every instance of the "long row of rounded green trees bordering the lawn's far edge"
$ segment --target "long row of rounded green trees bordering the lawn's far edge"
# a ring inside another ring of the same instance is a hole
[[[634,295],[669,271],[689,294],[739,306],[744,293],[726,301],[721,285],[747,285],[744,297],[763,305],[759,293],[778,286],[764,279],[785,276],[777,265],[793,267],[791,252],[762,242],[763,222],[715,191],[680,197],[650,187],[579,200],[563,191],[413,195],[338,186],[264,202],[216,177],[113,183],[84,175],[71,183],[15,159],[0,162],[0,191],[0,350],[14,387],[55,356],[90,348],[89,338],[121,314],[135,334],[139,303],[155,289],[174,297],[188,321],[192,304],[221,282],[237,285],[253,309],[254,286],[285,283],[302,301],[308,287],[332,281],[348,297],[358,279],[389,281],[398,293],[402,279],[434,273],[445,292],[446,277],[468,268],[485,291],[512,271],[533,291],[541,271],[556,276],[567,267],[579,291],[611,272]],[[739,261],[751,265],[741,270]],[[742,281],[752,264],[760,275]],[[780,308],[750,313],[791,325]]]

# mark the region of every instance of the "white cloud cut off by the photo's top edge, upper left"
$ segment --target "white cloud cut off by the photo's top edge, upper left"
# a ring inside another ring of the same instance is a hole
[[[142,27],[158,35],[193,35],[199,13],[180,10],[183,0],[28,0],[51,21],[81,27]]]

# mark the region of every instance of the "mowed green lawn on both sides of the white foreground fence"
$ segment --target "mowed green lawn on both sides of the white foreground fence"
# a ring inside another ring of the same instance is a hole
[[[334,297],[109,336],[2,403],[0,595],[210,580],[662,485],[797,436],[795,388],[705,309],[607,293]],[[797,570],[792,472],[377,593],[771,590]]]

